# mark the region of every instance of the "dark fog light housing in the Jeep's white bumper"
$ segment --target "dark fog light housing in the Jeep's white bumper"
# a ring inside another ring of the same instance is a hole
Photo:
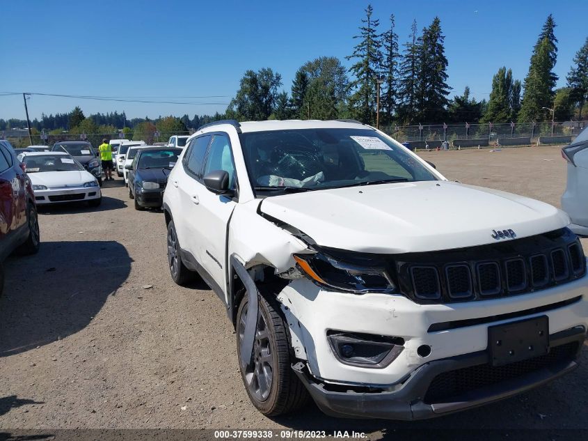
[[[386,367],[404,349],[404,339],[393,336],[329,330],[327,339],[340,362],[366,368]]]

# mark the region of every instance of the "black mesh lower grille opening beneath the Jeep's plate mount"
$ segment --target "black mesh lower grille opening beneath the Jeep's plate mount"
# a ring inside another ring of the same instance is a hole
[[[466,392],[525,376],[527,373],[538,371],[557,362],[574,359],[577,350],[578,343],[573,341],[551,348],[547,355],[505,366],[479,364],[440,373],[429,385],[427,394],[424,396],[424,402],[432,404],[454,401]]]

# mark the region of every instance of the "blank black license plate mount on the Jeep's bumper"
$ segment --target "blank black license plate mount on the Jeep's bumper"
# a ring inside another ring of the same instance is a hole
[[[504,366],[549,352],[549,318],[540,316],[488,327],[492,366]]]

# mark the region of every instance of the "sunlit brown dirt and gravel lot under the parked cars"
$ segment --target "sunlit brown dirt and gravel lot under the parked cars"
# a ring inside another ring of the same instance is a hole
[[[559,206],[556,147],[422,153],[450,179]],[[100,209],[40,215],[41,251],[6,261],[0,299],[1,428],[296,428],[393,438],[406,428],[588,428],[588,350],[566,378],[431,421],[268,419],[249,403],[235,334],[206,286],[179,288],[161,212],[137,212],[118,178]],[[583,242],[585,248],[588,242]]]

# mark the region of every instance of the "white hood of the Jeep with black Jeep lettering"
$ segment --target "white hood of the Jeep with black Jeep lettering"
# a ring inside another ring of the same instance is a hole
[[[317,245],[386,254],[485,245],[511,240],[493,238],[493,230],[524,238],[569,224],[547,203],[444,180],[284,194],[264,199],[260,210]]]

